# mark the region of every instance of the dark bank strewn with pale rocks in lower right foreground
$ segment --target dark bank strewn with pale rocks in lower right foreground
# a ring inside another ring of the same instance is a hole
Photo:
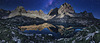
[[[58,39],[58,43],[65,41],[68,43],[100,43],[100,24],[91,25],[82,29],[74,37]]]

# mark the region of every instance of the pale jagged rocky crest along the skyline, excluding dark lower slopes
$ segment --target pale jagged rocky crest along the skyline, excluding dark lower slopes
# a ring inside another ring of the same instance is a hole
[[[0,10],[0,12],[2,11]],[[45,14],[42,10],[26,11],[23,6],[18,6],[15,10],[11,11],[11,13],[9,12],[8,12],[9,16],[6,18],[11,18],[11,17],[18,16],[18,15],[22,15],[22,16],[26,16],[30,18],[38,17],[44,20],[49,20],[52,18],[63,18],[64,16],[94,18],[92,13],[87,13],[87,11],[84,11],[81,13],[75,13],[75,10],[73,9],[73,7],[68,3],[62,4],[60,8],[51,9],[48,14]]]

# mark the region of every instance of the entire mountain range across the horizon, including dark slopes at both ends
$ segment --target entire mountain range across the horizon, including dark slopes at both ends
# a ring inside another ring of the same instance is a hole
[[[45,14],[42,10],[40,11],[26,11],[23,6],[18,6],[13,11],[6,11],[0,9],[0,18],[8,19],[14,18],[16,16],[25,16],[28,18],[43,19],[47,22],[57,22],[57,23],[79,23],[82,25],[91,25],[98,23],[100,20],[96,19],[92,13],[87,13],[87,11],[76,13],[70,4],[64,3],[60,8],[51,9],[48,14]]]

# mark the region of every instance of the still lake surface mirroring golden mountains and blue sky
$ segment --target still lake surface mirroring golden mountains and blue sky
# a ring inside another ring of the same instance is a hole
[[[63,37],[63,31],[80,31],[81,29],[74,27],[64,27],[63,25],[52,25],[49,23],[43,23],[39,25],[19,26],[19,29],[25,33],[30,34],[52,34],[54,38]],[[76,30],[75,30],[76,29]]]

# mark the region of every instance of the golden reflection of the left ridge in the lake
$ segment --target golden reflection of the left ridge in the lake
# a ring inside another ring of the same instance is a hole
[[[40,24],[40,25],[19,26],[19,29],[21,29],[21,31],[25,31],[25,30],[39,30],[39,31],[42,31],[44,28],[48,28],[52,32],[52,30],[49,27],[56,28],[52,24],[43,23],[43,24]]]

